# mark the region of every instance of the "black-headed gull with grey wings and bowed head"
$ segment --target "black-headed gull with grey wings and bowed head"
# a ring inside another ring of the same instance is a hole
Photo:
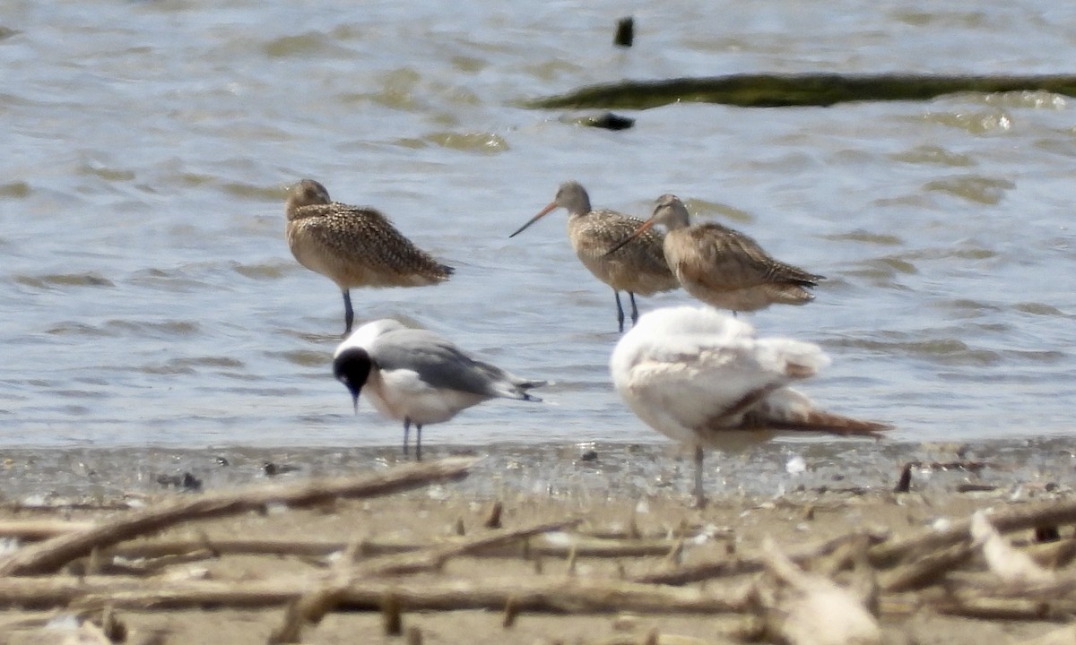
[[[382,415],[404,421],[404,454],[414,424],[414,457],[422,460],[422,427],[495,398],[541,401],[526,381],[465,354],[451,341],[391,318],[367,322],[337,347],[332,373],[348,386],[355,410],[365,391]]]

